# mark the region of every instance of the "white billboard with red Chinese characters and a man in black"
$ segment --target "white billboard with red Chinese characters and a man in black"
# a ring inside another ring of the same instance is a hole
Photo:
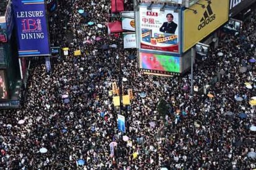
[[[179,13],[172,9],[140,7],[140,49],[179,52]]]

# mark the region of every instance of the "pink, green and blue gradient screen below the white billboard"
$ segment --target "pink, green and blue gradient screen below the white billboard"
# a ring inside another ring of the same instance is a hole
[[[180,73],[179,57],[140,52],[140,68]]]

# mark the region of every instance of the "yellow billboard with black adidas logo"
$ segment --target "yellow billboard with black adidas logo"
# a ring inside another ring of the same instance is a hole
[[[201,0],[184,10],[183,52],[228,21],[228,0]]]

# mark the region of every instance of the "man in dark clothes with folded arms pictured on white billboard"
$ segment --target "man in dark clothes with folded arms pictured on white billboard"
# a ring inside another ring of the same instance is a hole
[[[173,14],[166,15],[167,22],[164,22],[160,27],[160,31],[163,33],[174,34],[177,28],[177,23],[173,22]]]

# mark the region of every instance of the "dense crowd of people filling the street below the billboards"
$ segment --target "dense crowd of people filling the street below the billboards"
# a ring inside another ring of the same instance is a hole
[[[255,63],[249,62],[255,57],[255,17],[197,61],[195,85],[203,87],[218,75],[208,97],[208,92],[190,95],[189,73],[173,78],[141,73],[138,61],[128,57],[137,56],[136,51],[122,49],[122,37],[107,34],[109,2],[59,1],[49,19],[51,44],[69,47],[69,55],[53,57],[51,73],[43,59],[32,60],[23,107],[1,111],[0,169],[254,169],[255,158],[247,153],[255,151],[255,132],[250,131],[255,109],[249,105],[256,85]],[[79,9],[95,24],[85,25]],[[118,47],[101,49],[103,44]],[[79,49],[82,55],[74,56]],[[117,55],[127,78],[123,92],[134,94],[122,111],[125,133],[117,130],[109,95],[111,84],[119,81]],[[158,112],[160,100],[168,103],[166,115]],[[113,152],[111,142],[117,144]]]

